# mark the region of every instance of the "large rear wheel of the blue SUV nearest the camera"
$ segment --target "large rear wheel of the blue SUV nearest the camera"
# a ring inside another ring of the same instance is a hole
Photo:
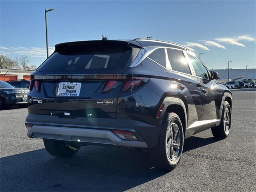
[[[172,139],[172,141],[174,142],[173,143],[171,142],[172,144],[170,144],[170,146],[172,147],[173,150],[169,148],[170,150],[169,153],[174,154],[175,152],[177,154],[177,157],[175,158],[174,156],[172,156],[172,159],[171,159],[169,157],[171,155],[168,155],[168,151],[166,148],[168,143],[170,143],[171,141],[171,139],[168,138],[168,134],[170,134],[170,131],[168,130],[171,130],[171,137],[173,137],[172,133],[175,133],[175,132],[172,131],[173,129],[171,129],[170,125],[174,125],[174,124],[178,126],[178,128],[176,127],[176,130],[178,130],[178,132],[176,134],[175,139]],[[174,148],[176,146],[173,146],[173,145],[178,145],[178,142],[180,144],[179,149],[178,147]],[[180,118],[176,113],[168,113],[166,114],[162,122],[162,128],[160,130],[157,148],[151,148],[148,150],[150,160],[153,166],[161,170],[166,170],[166,171],[173,170],[180,162],[183,146],[184,146],[184,134],[183,134],[183,128],[182,128],[182,123],[180,121]]]

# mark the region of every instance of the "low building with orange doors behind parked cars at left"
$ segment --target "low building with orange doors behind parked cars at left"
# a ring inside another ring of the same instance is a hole
[[[18,70],[18,69],[1,69],[0,68],[0,80],[18,80],[26,79],[30,80],[30,74],[34,72],[32,70]]]

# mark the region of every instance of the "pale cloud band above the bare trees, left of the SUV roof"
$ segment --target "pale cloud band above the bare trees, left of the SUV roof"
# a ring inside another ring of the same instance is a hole
[[[1,54],[19,54],[19,55],[27,55],[30,57],[46,57],[46,48],[45,47],[3,47],[2,50],[8,50],[8,52],[0,51]],[[49,54],[54,52],[54,47],[49,47]]]

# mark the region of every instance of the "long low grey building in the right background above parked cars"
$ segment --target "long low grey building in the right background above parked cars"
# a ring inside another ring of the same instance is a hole
[[[220,74],[220,80],[227,81],[228,80],[228,69],[213,69]],[[256,68],[246,69],[229,69],[229,79],[233,80],[236,78],[240,78],[240,80],[245,79],[256,79]]]

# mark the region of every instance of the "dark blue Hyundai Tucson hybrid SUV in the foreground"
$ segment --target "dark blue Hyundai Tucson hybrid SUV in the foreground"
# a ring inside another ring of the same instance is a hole
[[[152,39],[57,44],[31,74],[27,135],[70,157],[97,144],[147,149],[172,170],[184,139],[230,133],[232,95],[215,71],[178,44]]]

